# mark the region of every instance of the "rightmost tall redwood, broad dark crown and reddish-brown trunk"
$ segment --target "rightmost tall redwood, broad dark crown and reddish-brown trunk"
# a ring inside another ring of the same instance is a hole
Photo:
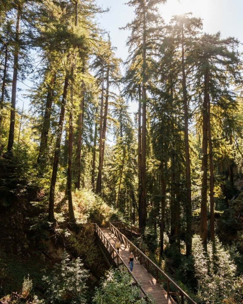
[[[229,79],[237,81],[239,77],[239,55],[235,51],[238,41],[233,37],[221,39],[220,33],[201,37],[195,46],[195,59],[197,61],[197,92],[199,97],[203,79],[203,131],[202,131],[202,187],[201,187],[201,215],[200,215],[200,236],[203,240],[205,249],[207,249],[207,169],[208,169],[208,142],[211,132],[208,114],[210,98],[221,109],[233,109],[236,101],[234,94],[229,88]],[[227,77],[226,77],[227,74]],[[200,98],[198,100],[201,100]],[[211,141],[209,143],[211,145]],[[210,154],[213,153],[210,147]],[[212,161],[212,159],[211,159]],[[211,169],[213,164],[210,164]],[[214,184],[213,170],[210,170],[210,211],[214,212]],[[214,238],[214,223],[212,215],[211,237]]]

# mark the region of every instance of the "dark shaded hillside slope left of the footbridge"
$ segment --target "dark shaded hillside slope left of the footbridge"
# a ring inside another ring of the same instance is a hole
[[[56,205],[60,205],[62,200],[63,195],[58,195]],[[0,212],[0,299],[12,292],[19,293],[24,279],[28,276],[33,282],[34,294],[42,294],[43,275],[48,275],[54,264],[60,263],[64,250],[71,258],[79,256],[85,260],[83,254],[70,244],[68,237],[65,237],[65,231],[67,233],[70,230],[56,229],[60,231],[55,234],[55,229],[48,227],[40,212],[39,207],[22,199],[16,199],[11,206]],[[71,232],[73,243],[75,243],[74,240],[78,242],[80,235],[91,239],[89,234],[83,236],[82,231],[80,229],[79,233]],[[62,244],[63,241],[65,244]],[[88,244],[87,240],[86,242]],[[101,253],[93,244],[94,239],[89,242],[95,259]],[[84,261],[84,266],[90,274],[87,285],[92,289],[98,286],[100,277],[108,269],[101,259],[97,258],[97,260],[99,267]]]

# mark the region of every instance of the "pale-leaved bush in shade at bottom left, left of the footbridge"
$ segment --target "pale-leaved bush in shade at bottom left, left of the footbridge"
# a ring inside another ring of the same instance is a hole
[[[50,275],[43,276],[43,282],[47,285],[47,302],[86,304],[87,277],[87,270],[83,269],[80,258],[70,261],[67,252],[64,251],[61,264],[55,264]]]

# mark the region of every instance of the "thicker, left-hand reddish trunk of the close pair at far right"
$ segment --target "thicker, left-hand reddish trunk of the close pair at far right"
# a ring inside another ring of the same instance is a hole
[[[209,102],[209,69],[204,74],[204,103],[203,103],[203,140],[202,140],[202,188],[200,237],[207,250],[207,107]]]

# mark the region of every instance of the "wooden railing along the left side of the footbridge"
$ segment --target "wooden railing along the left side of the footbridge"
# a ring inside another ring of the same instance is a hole
[[[118,254],[117,250],[115,250],[115,248],[113,247],[113,245],[111,244],[111,242],[104,235],[104,233],[100,229],[100,227],[97,224],[95,224],[95,223],[93,223],[93,225],[94,225],[94,231],[95,231],[97,237],[101,240],[101,242],[104,245],[105,249],[110,254],[110,257],[112,258],[112,260],[114,261],[114,263],[113,263],[114,266],[116,268],[122,269],[123,271],[127,270],[129,272],[129,274],[133,278],[134,282],[132,283],[132,285],[138,286],[140,288],[142,294],[144,295],[142,298],[145,299],[147,303],[152,303],[153,301],[151,299],[149,299],[149,297],[148,297],[147,293],[145,292],[145,290],[139,284],[138,280],[132,274],[130,268],[124,262],[124,260],[120,256],[120,254]],[[121,266],[121,268],[119,266]]]

